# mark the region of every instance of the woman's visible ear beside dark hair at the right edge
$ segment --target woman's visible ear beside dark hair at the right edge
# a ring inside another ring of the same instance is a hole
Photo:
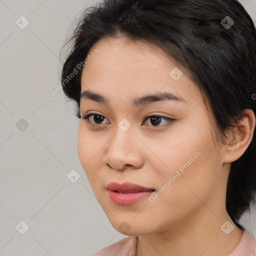
[[[223,163],[237,160],[249,146],[255,128],[255,114],[251,109],[243,109],[241,118],[228,133],[224,146]]]

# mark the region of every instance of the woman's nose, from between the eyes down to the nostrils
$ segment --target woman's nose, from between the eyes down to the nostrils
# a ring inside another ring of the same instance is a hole
[[[107,143],[107,151],[103,156],[103,163],[109,168],[124,170],[126,168],[138,169],[143,165],[143,143],[134,134],[132,126],[123,131],[119,126],[115,135]]]

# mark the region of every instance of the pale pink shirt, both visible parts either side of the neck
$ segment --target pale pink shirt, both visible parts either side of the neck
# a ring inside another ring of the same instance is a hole
[[[129,236],[88,256],[135,256],[136,245],[136,236]],[[255,238],[245,229],[240,242],[228,256],[255,256],[254,251],[256,252]]]

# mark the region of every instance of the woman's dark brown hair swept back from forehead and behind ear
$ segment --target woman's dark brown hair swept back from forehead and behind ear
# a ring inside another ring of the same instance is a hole
[[[226,16],[234,21],[228,29],[221,24]],[[180,63],[212,109],[221,140],[241,110],[256,113],[256,29],[237,0],[103,0],[86,8],[67,38],[70,50],[61,74],[65,95],[77,103],[77,116],[82,68],[72,79],[66,77],[93,43],[108,36],[152,43]],[[237,221],[255,200],[255,132],[244,154],[231,163],[227,182],[227,213],[239,228]]]

